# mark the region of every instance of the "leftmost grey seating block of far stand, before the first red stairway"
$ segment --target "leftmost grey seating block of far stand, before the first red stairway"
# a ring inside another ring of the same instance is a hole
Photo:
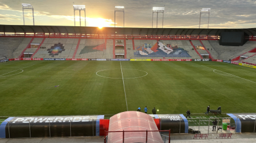
[[[24,38],[0,38],[0,57],[15,58],[13,52],[23,42]],[[26,45],[27,46],[27,45]],[[25,46],[25,47],[26,47]]]

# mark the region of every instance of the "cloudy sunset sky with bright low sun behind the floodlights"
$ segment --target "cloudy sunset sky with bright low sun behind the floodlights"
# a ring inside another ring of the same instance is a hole
[[[1,0],[0,24],[23,24],[22,3],[31,4],[35,12],[35,25],[74,26],[73,2],[85,5],[87,26],[114,26],[115,6],[125,9],[125,27],[151,27],[152,7],[165,5],[163,27],[198,28],[199,12],[210,8],[210,28],[256,27],[255,0]],[[116,26],[123,27],[123,13],[116,13]],[[26,25],[32,25],[32,10],[25,10]],[[84,12],[81,12],[84,26]],[[202,28],[207,27],[208,15],[202,15]],[[79,11],[76,11],[79,26]],[[156,13],[154,14],[156,27]],[[162,15],[158,15],[162,27]]]

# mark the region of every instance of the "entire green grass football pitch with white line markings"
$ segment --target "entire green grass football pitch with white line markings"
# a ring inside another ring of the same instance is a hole
[[[205,113],[208,105],[253,113],[255,75],[214,61],[9,61],[0,64],[0,116],[113,115],[139,106]]]

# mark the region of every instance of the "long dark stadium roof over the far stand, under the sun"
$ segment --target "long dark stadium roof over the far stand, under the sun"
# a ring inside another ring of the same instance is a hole
[[[123,28],[123,27],[84,27],[84,26],[29,26],[0,25],[0,33],[67,33],[94,35],[208,35],[217,36],[222,31],[245,32],[256,35],[251,29],[190,29],[190,28]]]

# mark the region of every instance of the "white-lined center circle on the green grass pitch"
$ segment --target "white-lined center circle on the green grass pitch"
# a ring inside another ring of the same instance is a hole
[[[126,79],[129,79],[144,77],[148,75],[148,72],[142,71],[140,69],[103,69],[96,72],[96,75],[105,78],[122,79],[124,77]],[[127,77],[127,75],[130,75],[130,77]]]

